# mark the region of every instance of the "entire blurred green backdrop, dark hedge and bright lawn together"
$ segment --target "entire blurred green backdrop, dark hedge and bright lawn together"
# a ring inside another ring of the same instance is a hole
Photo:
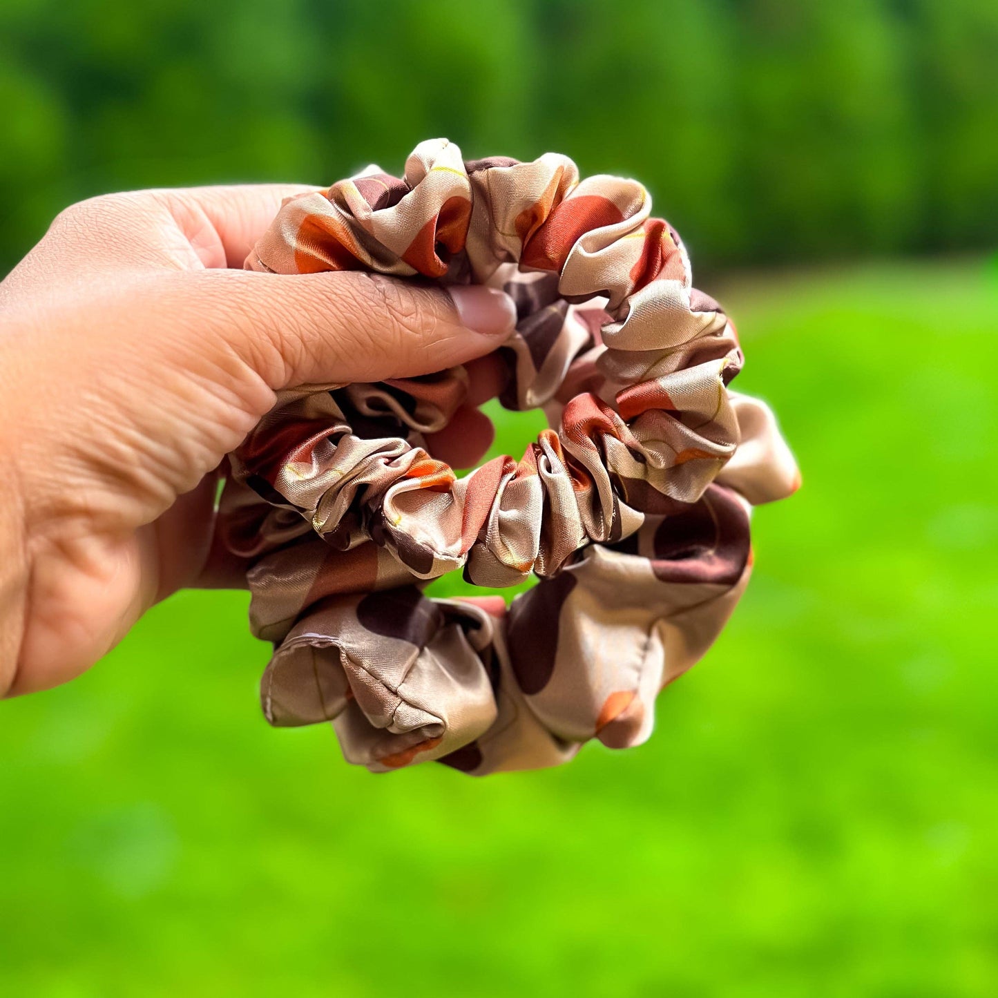
[[[0,272],[105,191],[565,152],[684,234],[804,487],[629,752],[348,768],[236,593],[0,705],[0,993],[998,994],[996,66],[993,0],[4,0]]]

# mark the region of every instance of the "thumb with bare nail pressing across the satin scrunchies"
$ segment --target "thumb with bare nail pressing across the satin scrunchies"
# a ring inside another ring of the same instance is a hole
[[[185,309],[201,316],[189,323],[197,348],[236,353],[274,390],[443,370],[490,353],[516,324],[513,299],[482,285],[352,270],[201,270],[182,279]]]

